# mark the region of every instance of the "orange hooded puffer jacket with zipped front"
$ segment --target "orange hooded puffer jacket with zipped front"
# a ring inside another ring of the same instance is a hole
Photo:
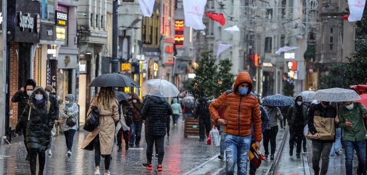
[[[241,96],[238,86],[247,82],[249,84],[246,95]],[[224,108],[224,133],[235,136],[250,136],[251,123],[253,124],[255,140],[261,141],[261,114],[259,102],[256,97],[249,95],[252,81],[247,72],[240,72],[233,86],[233,91],[226,91],[209,105],[210,115],[214,121],[220,118],[218,109]]]

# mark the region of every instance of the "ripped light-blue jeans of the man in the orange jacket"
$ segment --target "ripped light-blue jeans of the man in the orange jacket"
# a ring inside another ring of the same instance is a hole
[[[248,150],[250,149],[250,136],[234,136],[225,133],[225,174],[233,175],[237,163],[237,175],[246,175]]]

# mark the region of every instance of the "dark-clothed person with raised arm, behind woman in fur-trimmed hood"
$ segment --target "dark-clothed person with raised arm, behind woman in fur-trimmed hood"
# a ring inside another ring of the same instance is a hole
[[[36,80],[27,79],[25,81],[25,86],[20,88],[20,90],[17,93],[15,93],[14,96],[12,97],[12,102],[18,103],[18,121],[20,119],[21,114],[24,111],[24,108],[28,105],[29,96],[32,95],[32,92],[35,87],[36,87]],[[25,158],[25,160],[29,160],[29,151],[28,151],[27,143],[25,142],[25,129],[26,129],[25,127],[26,127],[26,124],[24,125],[24,128],[22,128],[22,135],[24,137],[24,145],[27,150],[27,157]]]

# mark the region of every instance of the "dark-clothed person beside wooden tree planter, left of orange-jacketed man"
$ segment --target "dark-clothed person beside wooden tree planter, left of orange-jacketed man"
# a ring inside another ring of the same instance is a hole
[[[210,133],[210,113],[209,104],[205,97],[198,100],[199,104],[195,109],[195,119],[199,118],[199,135],[200,141],[204,141],[205,134],[209,136]]]

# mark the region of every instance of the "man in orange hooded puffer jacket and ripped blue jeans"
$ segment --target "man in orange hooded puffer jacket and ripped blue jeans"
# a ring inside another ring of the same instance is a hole
[[[252,81],[247,72],[240,72],[233,90],[225,91],[209,105],[214,121],[224,125],[225,171],[233,175],[237,163],[237,175],[246,175],[247,157],[251,143],[251,124],[254,129],[256,148],[260,149],[261,115],[256,97],[249,95]],[[218,109],[225,109],[224,119],[220,118]]]

